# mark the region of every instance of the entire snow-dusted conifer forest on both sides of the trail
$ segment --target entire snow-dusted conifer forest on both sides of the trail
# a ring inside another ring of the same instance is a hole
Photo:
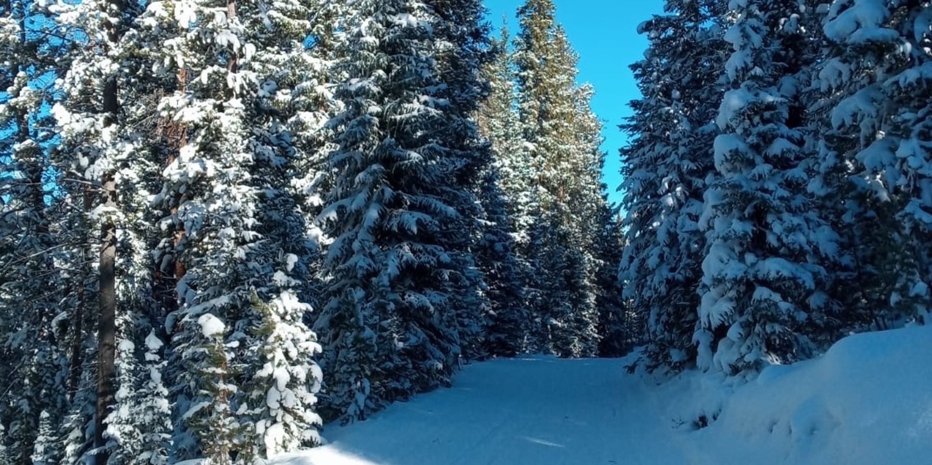
[[[0,0],[0,464],[254,463],[489,357],[739,375],[923,323],[932,7],[823,2],[666,0],[610,206],[553,0]]]

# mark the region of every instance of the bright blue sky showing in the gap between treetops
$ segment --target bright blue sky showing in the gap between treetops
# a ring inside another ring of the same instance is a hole
[[[493,26],[507,15],[509,29],[517,32],[514,13],[524,0],[485,0],[488,20]],[[618,149],[624,144],[624,133],[618,128],[631,112],[627,102],[638,96],[634,77],[628,64],[644,55],[647,39],[637,34],[637,24],[661,13],[663,0],[555,0],[556,20],[569,34],[569,42],[580,55],[580,82],[596,87],[593,109],[604,121],[608,153],[604,179],[609,185],[612,201],[620,201],[615,192],[621,182],[618,174]]]

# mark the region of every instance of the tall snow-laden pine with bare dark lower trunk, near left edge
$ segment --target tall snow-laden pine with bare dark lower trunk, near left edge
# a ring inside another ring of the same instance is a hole
[[[94,448],[85,452],[98,464],[106,463],[111,452],[104,420],[117,405],[117,389],[124,393],[134,389],[135,353],[120,355],[124,357],[121,364],[125,368],[121,379],[127,385],[117,386],[117,345],[132,345],[136,320],[153,311],[148,272],[151,264],[148,239],[152,237],[152,229],[145,206],[155,184],[152,180],[155,171],[148,163],[148,146],[141,136],[148,126],[144,121],[151,114],[154,100],[144,98],[149,86],[133,86],[138,81],[133,79],[133,73],[138,75],[140,63],[124,53],[123,40],[140,11],[138,5],[122,0],[56,7],[58,25],[71,39],[65,60],[67,73],[59,81],[62,99],[52,109],[61,135],[58,167],[64,174],[63,184],[76,181],[87,185],[85,192],[72,189],[71,193],[83,198],[89,209],[89,226],[101,232],[100,242],[93,243],[99,255],[98,286],[93,294],[98,300],[97,363],[93,365],[97,392],[91,430]],[[124,106],[124,102],[130,104]],[[141,108],[145,103],[150,104],[148,111]],[[87,257],[92,240],[88,230],[83,232],[88,235],[83,238],[80,247],[85,251],[80,255]],[[83,299],[89,296],[78,300]],[[117,338],[118,321],[125,324],[119,328],[123,339]],[[73,359],[76,348],[75,341]],[[73,360],[73,369],[75,365]],[[72,379],[80,379],[80,375],[75,374]],[[128,397],[124,395],[124,399]],[[117,405],[117,409],[121,407]],[[73,405],[71,410],[77,427],[81,408]],[[80,434],[69,432],[68,437],[80,438]],[[72,454],[80,448],[68,444],[64,450]],[[120,458],[114,460],[118,462]]]

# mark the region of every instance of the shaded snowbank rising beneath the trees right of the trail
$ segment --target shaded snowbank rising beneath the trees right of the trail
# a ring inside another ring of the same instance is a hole
[[[693,372],[657,389],[687,463],[932,463],[932,327],[851,336],[816,360],[722,381]]]

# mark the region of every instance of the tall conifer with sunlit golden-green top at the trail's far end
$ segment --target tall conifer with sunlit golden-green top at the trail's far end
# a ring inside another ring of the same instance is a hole
[[[556,25],[550,0],[528,0],[518,10],[515,40],[518,113],[532,157],[533,216],[525,256],[536,322],[537,349],[566,356],[596,352],[594,262],[585,246],[594,231],[590,201],[602,184],[594,170],[599,125],[589,91],[577,88],[575,52]],[[594,124],[595,123],[595,124]],[[593,145],[595,143],[595,146]],[[594,182],[595,179],[595,182]]]

